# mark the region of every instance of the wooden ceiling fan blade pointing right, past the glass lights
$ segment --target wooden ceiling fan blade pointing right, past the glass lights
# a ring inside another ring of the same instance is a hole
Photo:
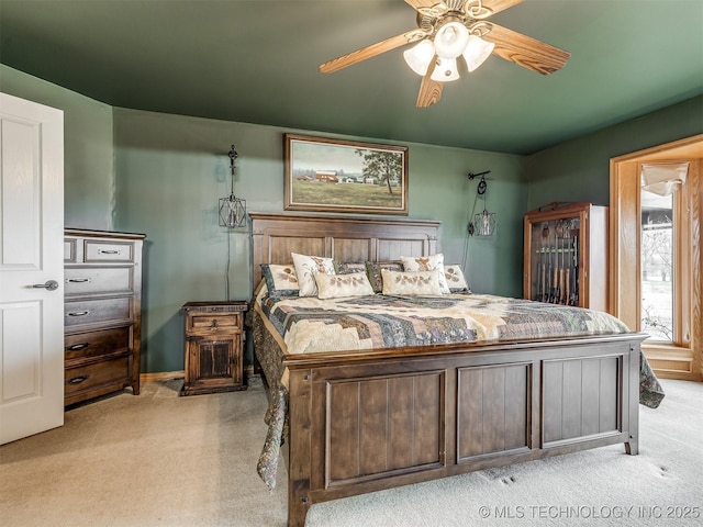
[[[571,56],[569,52],[491,23],[482,38],[495,44],[493,54],[542,75],[561,69]]]

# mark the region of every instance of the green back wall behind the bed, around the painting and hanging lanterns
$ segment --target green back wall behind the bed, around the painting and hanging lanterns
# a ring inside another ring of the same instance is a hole
[[[230,254],[230,298],[248,299],[249,229],[217,226],[217,200],[230,192],[232,144],[239,158],[235,193],[249,211],[283,210],[284,132],[313,132],[114,109],[118,180],[114,225],[147,235],[144,276],[144,369],[183,367],[180,306],[225,300]],[[349,137],[345,137],[349,138]],[[352,137],[354,139],[367,139]],[[379,142],[382,139],[368,139]],[[409,146],[409,216],[442,221],[445,260],[462,261],[466,225],[478,181],[467,172],[490,169],[488,208],[499,216],[493,238],[469,242],[467,277],[480,292],[520,295],[522,216],[526,184],[520,156],[429,145]],[[483,202],[477,212],[483,210]]]

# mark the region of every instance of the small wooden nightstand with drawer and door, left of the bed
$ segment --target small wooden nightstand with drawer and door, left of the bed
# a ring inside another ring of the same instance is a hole
[[[186,382],[181,395],[246,390],[243,334],[247,310],[242,301],[183,304]]]

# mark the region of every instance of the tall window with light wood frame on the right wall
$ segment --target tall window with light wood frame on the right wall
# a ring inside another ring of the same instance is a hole
[[[611,160],[609,306],[649,335],[643,349],[663,378],[702,374],[702,158],[696,136]],[[649,166],[685,166],[685,175],[652,188],[644,178]]]

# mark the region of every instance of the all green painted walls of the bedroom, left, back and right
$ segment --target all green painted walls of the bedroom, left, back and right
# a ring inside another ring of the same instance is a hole
[[[235,191],[249,211],[283,210],[282,134],[300,131],[111,108],[0,65],[0,90],[64,110],[67,226],[145,233],[143,371],[183,368],[180,306],[224,300],[227,249],[232,299],[247,299],[250,236],[217,226]],[[522,294],[522,218],[550,201],[609,202],[611,157],[703,133],[703,97],[529,157],[410,144],[410,216],[442,221],[440,250],[462,262],[478,181],[491,170],[486,205],[499,232],[468,239],[467,277],[477,292]],[[384,143],[383,138],[344,137]],[[483,210],[483,201],[476,212]]]

